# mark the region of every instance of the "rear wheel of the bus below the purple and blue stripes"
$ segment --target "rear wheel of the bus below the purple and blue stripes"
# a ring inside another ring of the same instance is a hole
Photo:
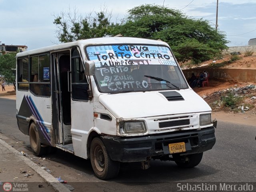
[[[36,127],[36,124],[34,124],[34,122],[31,123],[29,128],[29,141],[30,141],[30,146],[34,151],[34,153],[36,154],[36,156],[42,156],[49,151],[50,146],[48,147],[41,146],[38,129]]]

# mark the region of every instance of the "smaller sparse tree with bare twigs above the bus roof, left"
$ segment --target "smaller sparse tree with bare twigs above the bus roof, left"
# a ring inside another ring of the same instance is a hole
[[[112,13],[104,6],[100,12],[90,12],[85,17],[78,15],[78,10],[73,12],[62,11],[54,15],[54,24],[57,28],[56,37],[60,42],[72,42],[80,39],[104,37],[110,34]]]

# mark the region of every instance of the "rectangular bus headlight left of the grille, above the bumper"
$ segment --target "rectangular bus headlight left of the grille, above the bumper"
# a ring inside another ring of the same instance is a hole
[[[119,130],[121,134],[143,133],[146,132],[146,127],[143,121],[120,122]]]

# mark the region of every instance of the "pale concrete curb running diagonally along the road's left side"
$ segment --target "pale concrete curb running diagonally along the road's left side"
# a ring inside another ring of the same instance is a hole
[[[4,147],[6,147],[8,150],[10,150],[12,153],[14,154],[20,154],[19,151],[17,151],[16,149],[14,149],[12,146],[10,146],[9,144],[7,144],[6,142],[4,142],[2,139],[0,139],[0,144],[2,144]],[[56,191],[56,192],[70,192],[70,190],[68,188],[66,188],[63,184],[61,184],[56,178],[54,178],[54,176],[52,176],[51,174],[49,174],[48,172],[46,172],[45,170],[43,170],[42,168],[40,168],[37,164],[35,164],[34,162],[32,162],[32,160],[28,159],[27,157],[23,156],[23,155],[18,155],[18,157],[24,161],[28,166],[30,166],[30,168],[32,168],[40,177],[43,178],[43,180],[49,184],[50,186],[52,186],[52,188]]]

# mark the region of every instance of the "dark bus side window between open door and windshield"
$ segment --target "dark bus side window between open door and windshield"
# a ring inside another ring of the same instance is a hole
[[[71,70],[72,99],[88,101],[89,84],[84,74],[84,66],[80,54],[76,48],[72,50]]]

